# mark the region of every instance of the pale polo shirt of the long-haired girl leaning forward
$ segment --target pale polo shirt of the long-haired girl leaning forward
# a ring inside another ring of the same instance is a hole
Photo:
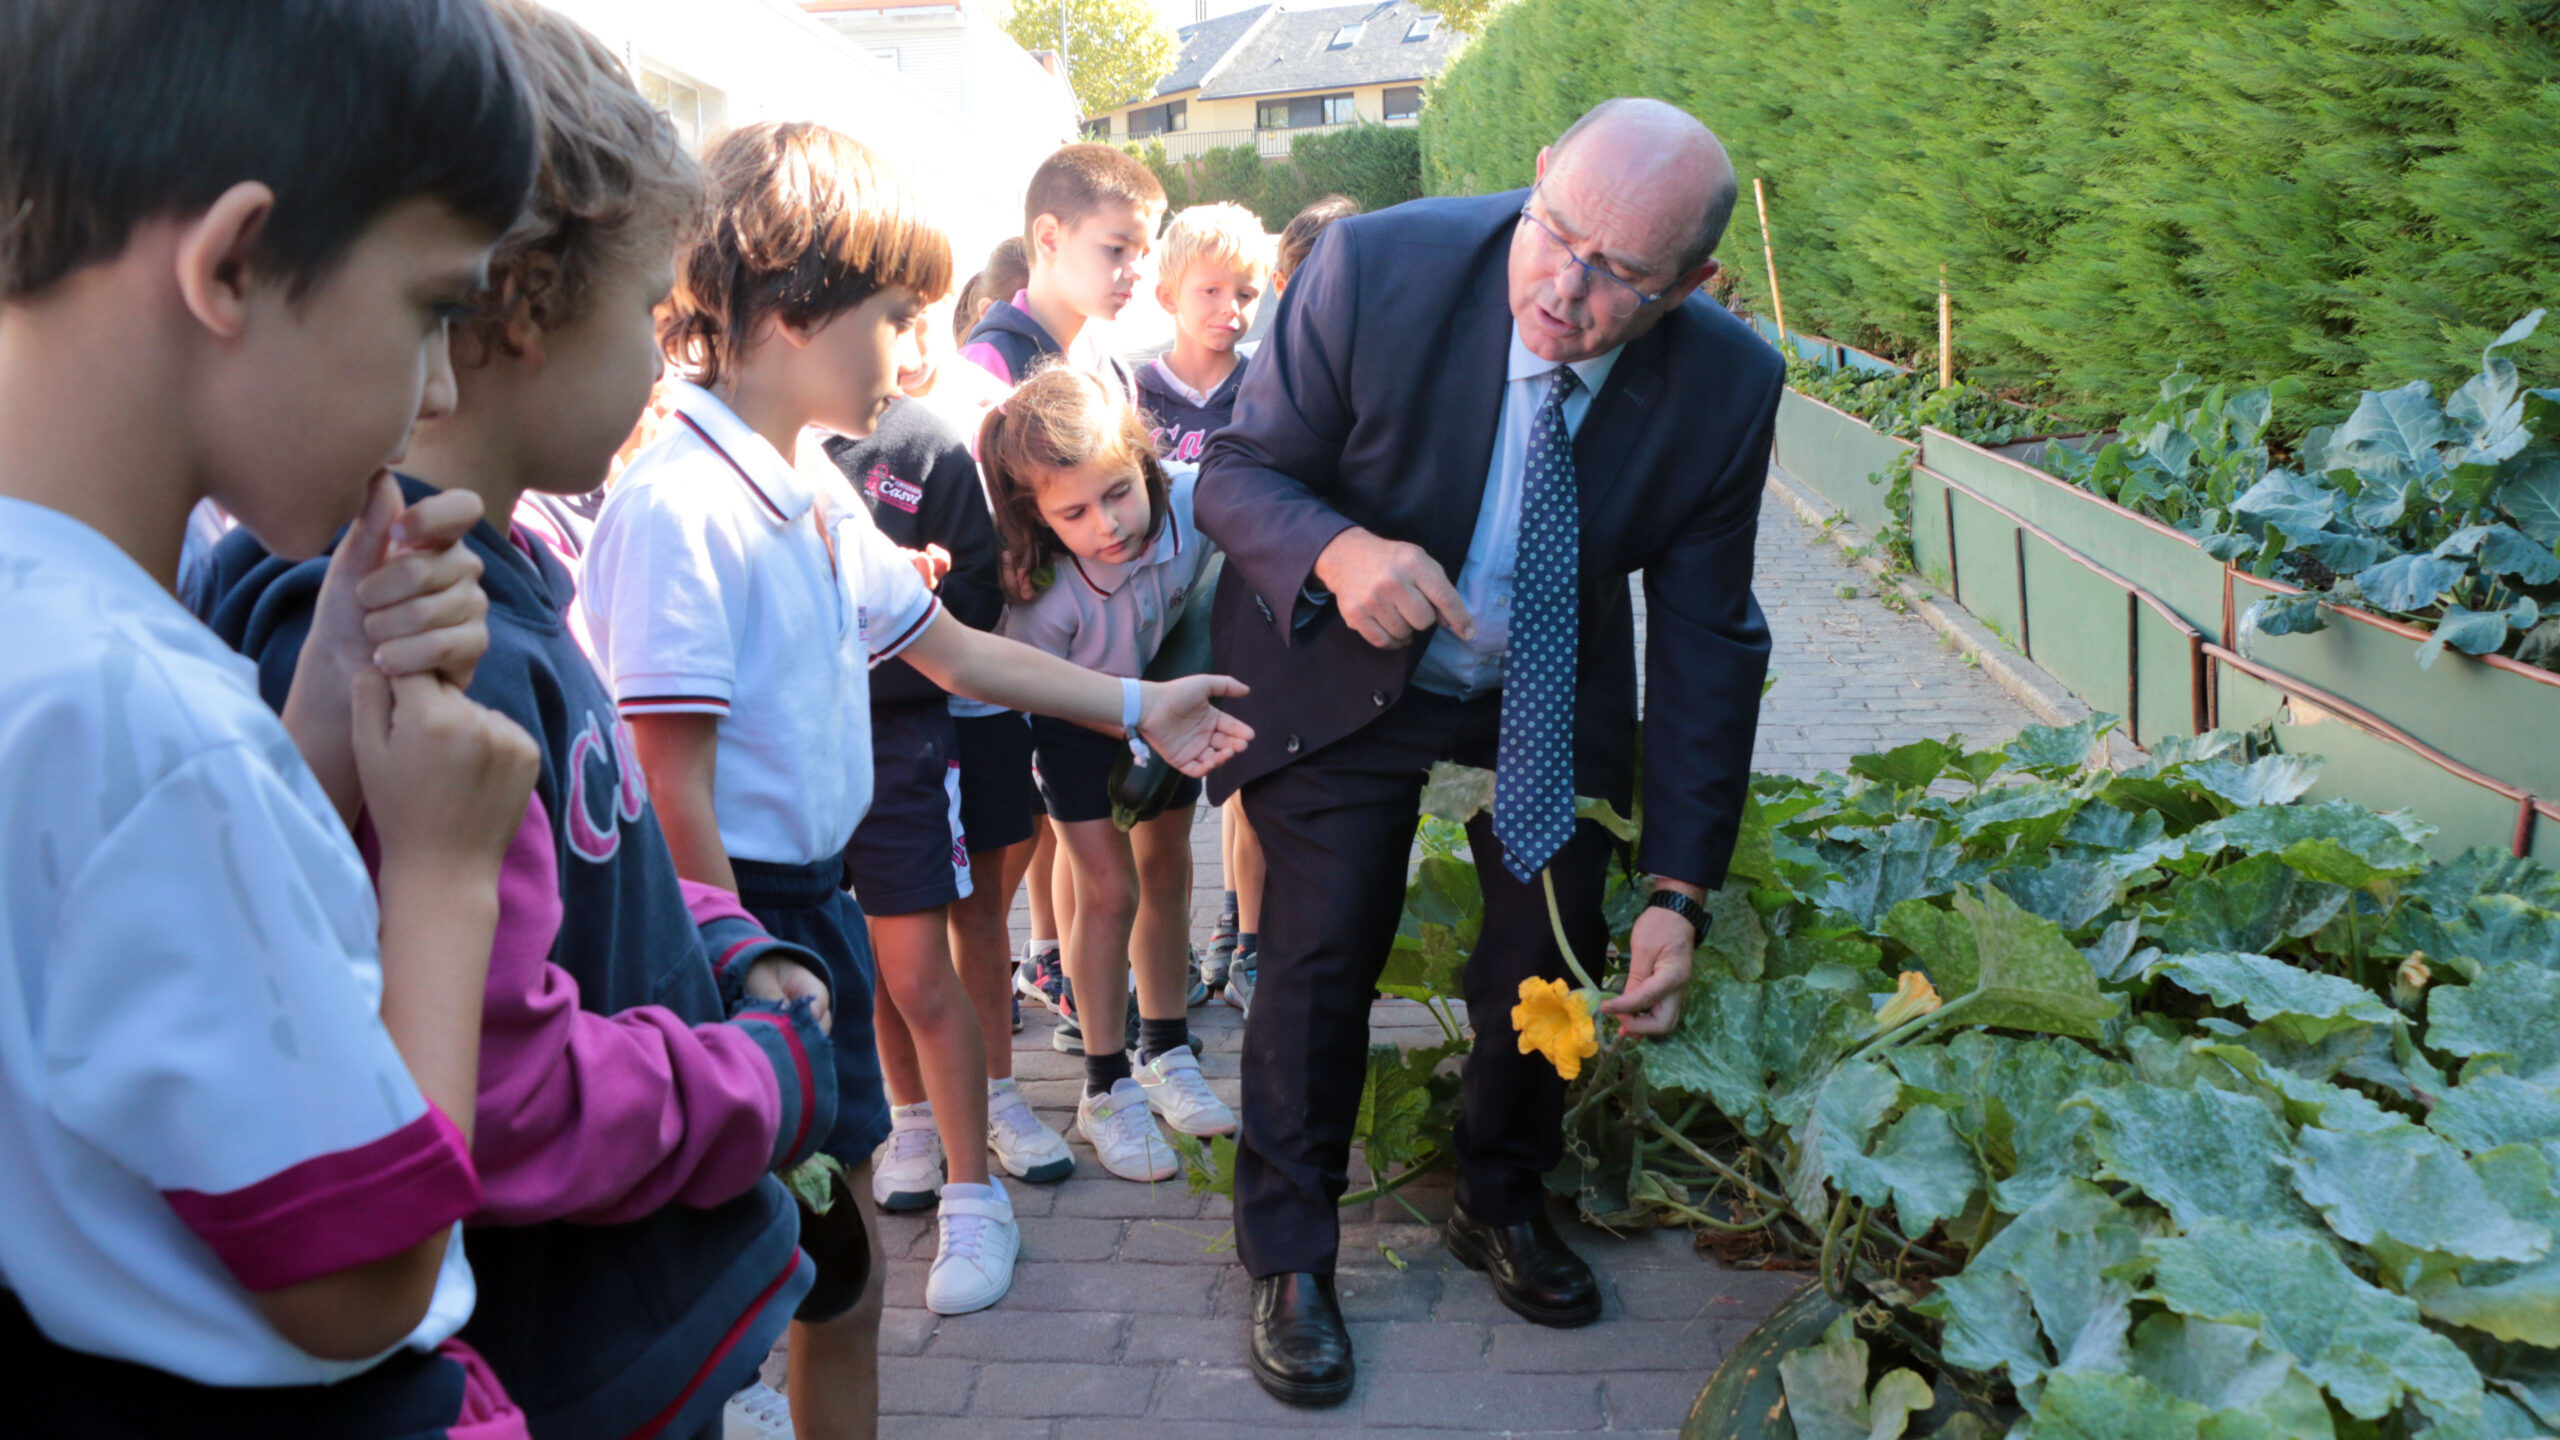
[[[1006,605],[996,633],[1101,674],[1142,676],[1216,553],[1190,528],[1190,492],[1201,471],[1165,469],[1165,520],[1139,559],[1101,564],[1060,556],[1050,587],[1029,605]]]

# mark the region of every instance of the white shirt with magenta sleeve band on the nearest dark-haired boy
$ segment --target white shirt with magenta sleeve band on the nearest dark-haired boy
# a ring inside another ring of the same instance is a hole
[[[369,1371],[251,1302],[479,1207],[381,1027],[356,846],[233,656],[0,500],[0,1279],[56,1345],[207,1386]],[[412,1348],[471,1314],[461,1235]]]

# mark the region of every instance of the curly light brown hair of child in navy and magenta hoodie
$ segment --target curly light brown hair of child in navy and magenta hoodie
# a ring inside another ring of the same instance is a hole
[[[509,348],[517,307],[543,331],[579,320],[604,274],[666,256],[701,213],[701,167],[596,36],[532,0],[494,10],[532,85],[543,151],[532,197],[499,236],[461,331],[481,356]]]

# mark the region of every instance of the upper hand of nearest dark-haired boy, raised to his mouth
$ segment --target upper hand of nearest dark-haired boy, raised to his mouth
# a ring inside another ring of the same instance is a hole
[[[399,482],[374,477],[364,512],[338,541],[302,666],[335,694],[371,666],[384,674],[435,671],[456,689],[489,648],[489,597],[479,587],[481,561],[461,538],[481,518],[468,489],[445,489],[402,510]]]

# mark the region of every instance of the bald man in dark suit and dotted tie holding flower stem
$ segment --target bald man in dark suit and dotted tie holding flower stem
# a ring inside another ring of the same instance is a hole
[[[1779,356],[1702,295],[1733,167],[1690,115],[1610,100],[1539,154],[1539,184],[1341,220],[1300,269],[1236,418],[1211,441],[1198,523],[1229,556],[1216,669],[1254,748],[1242,787],[1270,858],[1244,1035],[1236,1250],[1252,1371],[1298,1404],[1352,1391],[1334,1299],[1370,994],[1395,938],[1423,771],[1492,766],[1469,825],[1485,933],[1449,1250],[1544,1325],[1600,1317],[1546,1220],[1564,1081],[1521,1056],[1510,1007],[1562,976],[1541,879],[1592,969],[1608,835],[1636,774],[1628,574],[1646,584],[1644,851],[1618,1027],[1667,1033],[1705,889],[1723,881],[1751,769],[1769,630],[1751,538]],[[1454,579],[1452,579],[1454,577]]]

